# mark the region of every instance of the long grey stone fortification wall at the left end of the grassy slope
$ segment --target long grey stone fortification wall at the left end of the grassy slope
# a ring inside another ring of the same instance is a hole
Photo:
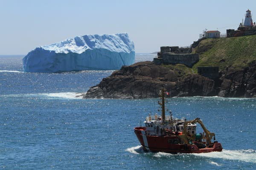
[[[154,58],[154,64],[184,64],[188,67],[192,67],[199,61],[198,54],[172,54],[163,53],[162,58]]]

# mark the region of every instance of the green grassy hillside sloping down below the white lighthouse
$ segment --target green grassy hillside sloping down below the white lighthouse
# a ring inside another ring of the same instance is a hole
[[[202,40],[192,51],[199,54],[199,62],[193,66],[219,66],[224,70],[227,66],[235,69],[244,68],[256,60],[256,35],[230,38],[208,38]]]

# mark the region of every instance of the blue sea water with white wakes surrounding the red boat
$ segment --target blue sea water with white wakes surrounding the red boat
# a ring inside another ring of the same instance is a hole
[[[133,128],[158,99],[76,98],[112,72],[24,73],[22,56],[0,56],[0,169],[256,169],[256,99],[171,98],[176,117],[200,117],[224,150],[145,153]]]

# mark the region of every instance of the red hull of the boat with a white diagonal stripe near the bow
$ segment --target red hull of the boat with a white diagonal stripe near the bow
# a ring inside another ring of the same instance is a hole
[[[221,152],[220,143],[213,143],[212,147],[198,148],[195,144],[178,144],[178,136],[149,136],[145,133],[146,127],[135,127],[134,132],[144,150],[166,153],[208,153]],[[177,140],[176,140],[177,139]]]

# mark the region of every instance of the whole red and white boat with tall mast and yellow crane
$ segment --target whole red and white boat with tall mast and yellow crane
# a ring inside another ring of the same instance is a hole
[[[165,115],[165,95],[166,89],[160,90],[162,114],[149,114],[144,123],[145,126],[135,127],[134,132],[143,146],[143,150],[150,152],[165,153],[208,153],[221,152],[221,143],[215,141],[215,133],[211,133],[204,126],[200,118],[186,120],[177,119],[170,115]],[[197,123],[204,130],[197,133]],[[213,142],[212,142],[213,138]]]

